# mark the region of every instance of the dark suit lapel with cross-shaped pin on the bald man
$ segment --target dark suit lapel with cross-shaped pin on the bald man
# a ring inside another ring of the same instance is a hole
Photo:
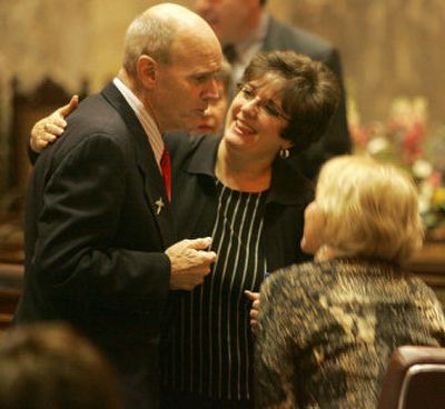
[[[171,207],[150,142],[136,113],[112,82],[106,86],[102,94],[119,112],[128,127],[129,137],[132,138],[135,144],[137,167],[144,180],[147,207],[152,213],[164,246],[167,248],[176,241],[176,235]],[[141,226],[141,228],[144,227]]]

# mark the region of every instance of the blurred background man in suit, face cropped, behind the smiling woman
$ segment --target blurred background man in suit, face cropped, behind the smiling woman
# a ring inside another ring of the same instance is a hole
[[[326,40],[305,30],[285,24],[266,10],[266,0],[196,0],[195,9],[215,30],[226,58],[231,63],[236,86],[251,58],[259,51],[294,50],[324,62],[340,80],[342,66],[337,50]],[[314,179],[328,158],[352,149],[343,97],[325,136],[304,153],[295,154],[295,163]]]

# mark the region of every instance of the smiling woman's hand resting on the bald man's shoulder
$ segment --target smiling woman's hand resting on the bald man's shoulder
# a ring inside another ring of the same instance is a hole
[[[29,144],[36,153],[40,153],[48,143],[59,138],[67,127],[65,117],[71,113],[79,104],[79,97],[73,96],[69,103],[60,107],[48,117],[36,122],[31,130],[31,139]]]

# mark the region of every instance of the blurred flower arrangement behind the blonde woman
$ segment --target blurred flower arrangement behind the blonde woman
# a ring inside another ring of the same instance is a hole
[[[349,103],[356,153],[405,168],[414,178],[428,240],[445,240],[445,126],[431,131],[427,100],[397,98],[385,121],[363,124]]]

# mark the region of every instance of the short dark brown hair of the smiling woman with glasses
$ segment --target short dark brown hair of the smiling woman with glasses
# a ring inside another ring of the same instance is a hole
[[[258,53],[247,67],[243,83],[266,74],[284,78],[281,104],[289,123],[281,137],[295,151],[322,138],[337,109],[340,88],[336,76],[322,62],[294,51]]]

